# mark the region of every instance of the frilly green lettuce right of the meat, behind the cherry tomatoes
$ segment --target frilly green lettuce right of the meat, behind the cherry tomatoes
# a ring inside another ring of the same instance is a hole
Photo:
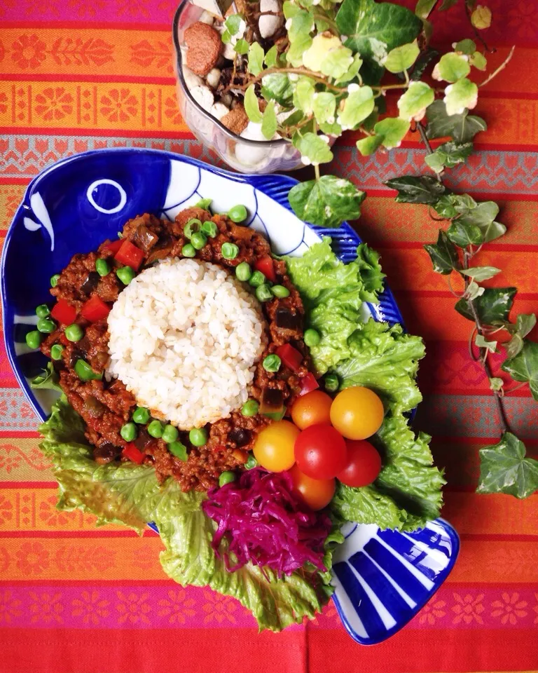
[[[439,515],[445,483],[432,464],[429,435],[415,435],[406,416],[422,400],[415,379],[424,344],[401,325],[369,317],[364,301],[378,301],[384,278],[378,254],[362,244],[357,259],[343,264],[330,243],[324,238],[303,257],[286,259],[307,325],[322,337],[310,348],[312,362],[320,374],[338,374],[340,388],[375,390],[386,411],[372,438],[383,457],[378,479],[361,489],[338,483],[331,511],[342,521],[414,530]]]

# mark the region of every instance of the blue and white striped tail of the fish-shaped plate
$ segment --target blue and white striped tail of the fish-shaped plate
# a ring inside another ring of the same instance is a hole
[[[453,568],[460,540],[443,519],[413,533],[345,524],[333,556],[333,599],[350,636],[379,643],[411,620]]]

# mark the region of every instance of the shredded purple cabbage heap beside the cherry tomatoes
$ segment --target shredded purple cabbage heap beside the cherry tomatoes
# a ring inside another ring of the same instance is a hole
[[[237,481],[211,489],[202,509],[218,525],[212,541],[217,555],[222,538],[228,541],[223,554],[228,571],[249,561],[279,575],[290,575],[306,562],[326,571],[324,542],[331,519],[303,503],[288,473],[246,470]],[[235,555],[235,564],[230,554]]]

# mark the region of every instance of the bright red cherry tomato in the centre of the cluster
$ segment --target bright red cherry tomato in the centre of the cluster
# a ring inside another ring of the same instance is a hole
[[[344,438],[331,426],[310,426],[295,440],[295,459],[307,477],[332,479],[347,462]]]

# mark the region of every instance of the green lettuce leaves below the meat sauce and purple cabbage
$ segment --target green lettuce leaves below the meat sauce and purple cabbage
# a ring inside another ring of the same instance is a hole
[[[202,512],[206,495],[183,493],[169,479],[158,484],[155,470],[135,463],[97,465],[85,439],[83,421],[64,396],[53,406],[50,419],[39,428],[43,453],[53,463],[60,487],[57,507],[80,508],[97,515],[98,524],[125,524],[139,533],[155,522],[165,545],[160,562],[182,586],[209,586],[232,596],[249,609],[260,629],[280,631],[304,617],[313,618],[327,601],[329,574],[303,569],[278,578],[270,569],[252,564],[230,573],[211,546],[215,524]],[[336,533],[326,543],[326,566],[331,566]]]

